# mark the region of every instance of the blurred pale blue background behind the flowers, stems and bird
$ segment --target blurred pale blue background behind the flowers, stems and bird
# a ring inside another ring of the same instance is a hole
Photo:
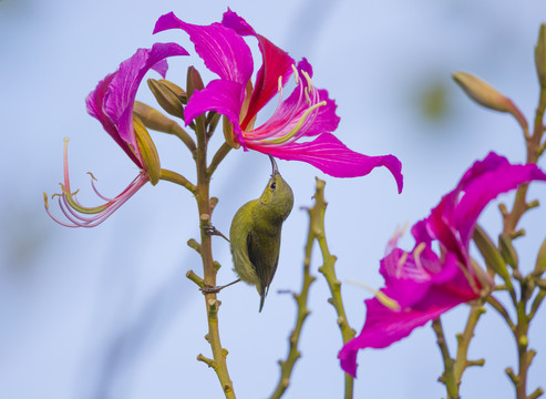
[[[484,78],[532,119],[538,98],[533,49],[546,20],[543,0],[3,0],[0,398],[222,397],[215,374],[195,360],[199,352],[209,356],[209,347],[203,338],[203,296],[185,278],[188,269],[200,274],[199,258],[186,246],[198,236],[190,194],[167,182],[146,185],[99,227],[70,229],[45,214],[42,191],[59,192],[63,137],[69,136],[72,187],[81,188],[80,200],[96,200],[87,171],[103,193],[120,193],[136,167],[86,114],[84,98],[138,47],[177,41],[195,54],[182,32],[151,34],[161,14],[174,11],[185,21],[208,24],[220,20],[227,7],[296,60],[307,57],[316,86],[328,89],[338,103],[337,135],[354,151],[396,155],[405,176],[399,195],[384,168],[336,180],[307,164],[279,162],[296,200],[264,311],[258,314],[251,287],[239,284],[219,295],[222,339],[238,398],[268,397],[278,381],[277,360],[286,357],[296,313],[291,297],[277,291],[301,284],[308,216],[299,208],[312,205],[315,176],[327,181],[327,237],[339,258],[338,277],[379,288],[379,259],[396,226],[426,216],[490,151],[524,161],[523,137],[511,116],[471,103],[450,74],[464,70]],[[189,64],[203,71],[196,57],[177,58],[169,61],[167,79],[184,84]],[[137,98],[155,105],[146,85]],[[175,137],[156,134],[154,140],[164,167],[194,177],[192,158]],[[222,140],[218,134],[213,145]],[[213,218],[218,229],[229,231],[237,208],[261,193],[269,173],[269,161],[260,154],[233,151],[227,156],[212,184],[220,200]],[[545,185],[535,184],[529,198],[546,204]],[[509,204],[512,196],[499,201]],[[501,226],[496,203],[481,219],[492,236]],[[517,242],[517,249],[526,272],[544,239],[545,221],[544,206],[523,219],[528,237]],[[214,244],[215,258],[224,265],[218,282],[231,282],[228,245],[220,238]],[[411,248],[411,237],[401,245]],[[316,252],[311,316],[286,398],[342,395],[341,337],[320,265]],[[368,297],[361,288],[343,286],[349,321],[358,331]],[[538,352],[529,392],[538,385],[546,388],[542,310],[529,332]],[[443,317],[452,351],[467,311],[461,306]],[[462,397],[514,397],[504,369],[517,368],[516,348],[491,309],[476,329],[470,357],[486,362],[466,371]],[[361,351],[359,364],[356,398],[445,396],[436,381],[442,364],[430,325],[390,348]]]

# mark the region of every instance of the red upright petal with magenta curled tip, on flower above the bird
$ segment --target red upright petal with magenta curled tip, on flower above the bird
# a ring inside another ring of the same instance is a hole
[[[291,66],[295,64],[295,61],[286,51],[279,49],[261,34],[256,33],[254,28],[245,19],[231,10],[228,9],[224,13],[222,23],[227,28],[231,28],[240,35],[254,35],[258,39],[261,51],[262,64],[256,76],[247,114],[241,123],[241,127],[246,129],[264,105],[277,94],[279,76],[281,76],[282,85],[288,82],[288,79],[292,74]]]

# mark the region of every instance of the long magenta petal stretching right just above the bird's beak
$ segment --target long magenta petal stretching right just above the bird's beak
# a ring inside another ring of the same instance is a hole
[[[368,156],[357,153],[330,133],[321,134],[306,143],[278,146],[249,144],[248,147],[280,160],[307,162],[334,177],[364,176],[374,167],[385,166],[394,176],[399,193],[402,192],[402,164],[395,156]]]

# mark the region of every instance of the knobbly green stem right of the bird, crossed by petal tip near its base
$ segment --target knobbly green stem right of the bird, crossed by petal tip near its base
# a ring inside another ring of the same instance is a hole
[[[320,250],[322,253],[323,265],[319,267],[319,272],[324,276],[328,287],[330,288],[331,298],[328,299],[330,304],[332,304],[336,313],[338,314],[338,326],[341,330],[341,337],[343,344],[347,344],[350,339],[352,339],[356,335],[354,329],[349,326],[349,321],[347,320],[346,310],[343,307],[343,301],[341,299],[341,282],[336,277],[334,264],[337,257],[330,254],[328,249],[328,244],[326,241],[324,234],[324,212],[327,202],[324,201],[324,185],[326,183],[319,178],[317,180],[317,193],[315,194],[316,205],[313,209],[317,213],[317,216],[313,218],[313,223],[311,223],[311,228],[313,229],[313,234],[319,242]],[[354,378],[349,374],[346,374],[344,378],[346,385],[346,399],[351,399],[353,397],[354,390]]]

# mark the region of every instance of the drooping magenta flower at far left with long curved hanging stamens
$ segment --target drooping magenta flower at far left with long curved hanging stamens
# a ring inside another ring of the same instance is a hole
[[[53,216],[49,209],[44,193],[45,209],[58,223],[66,227],[94,227],[104,222],[112,213],[131,198],[144,184],[156,184],[159,174],[159,162],[155,146],[145,127],[138,120],[133,120],[133,106],[138,85],[150,69],[165,76],[166,58],[188,55],[187,51],[175,43],[156,43],[152,49],[138,49],[128,60],[120,64],[120,69],[99,82],[96,89],[85,99],[87,112],[96,117],[104,130],[122,147],[127,156],[138,166],[141,172],[131,184],[116,197],[107,198],[95,187],[92,174],[91,185],[96,195],[105,203],[94,207],[81,205],[70,187],[68,165],[68,139],[64,143],[64,184],[59,205],[68,222]]]

